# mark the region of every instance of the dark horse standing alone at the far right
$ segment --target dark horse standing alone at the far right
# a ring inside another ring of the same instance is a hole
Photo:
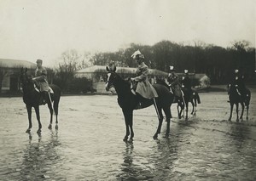
[[[236,122],[239,122],[239,116],[238,116],[238,107],[239,104],[241,104],[241,116],[240,119],[242,121],[243,111],[244,111],[244,105],[247,106],[247,120],[248,120],[248,110],[251,100],[251,92],[249,89],[245,89],[245,96],[244,98],[241,96],[241,93],[238,91],[238,88],[236,88],[235,85],[230,84],[230,118],[229,121],[231,121],[232,113],[233,113],[233,107],[236,105]]]

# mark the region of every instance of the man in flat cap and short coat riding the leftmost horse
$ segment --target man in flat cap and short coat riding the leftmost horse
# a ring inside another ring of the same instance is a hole
[[[49,96],[48,95],[49,84],[47,82],[47,71],[42,65],[43,65],[43,60],[37,59],[37,69],[35,71],[35,77],[32,78],[33,82],[35,82],[36,87],[39,88],[39,92],[41,93],[39,105],[45,105],[46,99]]]

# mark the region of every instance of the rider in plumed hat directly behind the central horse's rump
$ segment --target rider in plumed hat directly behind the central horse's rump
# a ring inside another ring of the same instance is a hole
[[[183,93],[181,90],[179,77],[177,76],[176,70],[174,69],[173,66],[170,66],[167,82],[169,82],[170,91],[174,94],[173,102],[177,102],[177,100],[183,97]]]

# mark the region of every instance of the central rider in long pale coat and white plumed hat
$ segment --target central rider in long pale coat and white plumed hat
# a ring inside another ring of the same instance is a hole
[[[137,61],[137,76],[131,78],[134,83],[133,88],[136,90],[139,105],[137,109],[143,108],[143,99],[153,99],[158,97],[154,87],[148,81],[148,66],[144,63],[144,55],[137,50],[131,55],[132,59]]]

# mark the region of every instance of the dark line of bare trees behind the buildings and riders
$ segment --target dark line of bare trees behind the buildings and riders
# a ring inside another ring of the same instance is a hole
[[[171,41],[161,41],[153,46],[131,43],[129,48],[120,48],[116,52],[84,53],[68,50],[61,54],[61,62],[56,71],[61,82],[67,82],[73,73],[89,65],[108,65],[114,61],[117,66],[137,67],[131,59],[137,49],[145,55],[145,64],[151,69],[169,71],[173,65],[177,72],[184,69],[191,73],[205,73],[213,84],[230,82],[235,69],[245,76],[246,82],[255,80],[255,48],[247,41],[232,42],[230,48],[223,48],[204,42],[184,45]]]

